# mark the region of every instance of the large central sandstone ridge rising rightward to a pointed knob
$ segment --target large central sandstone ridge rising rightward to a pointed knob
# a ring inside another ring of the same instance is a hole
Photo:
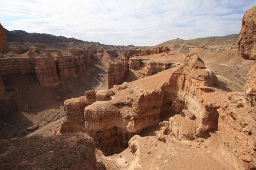
[[[217,128],[217,108],[201,95],[202,89],[214,85],[216,76],[205,67],[195,66],[195,63],[204,65],[198,56],[188,55],[186,60],[184,65],[111,89],[111,100],[83,105],[84,117],[76,118],[85,122],[86,132],[93,136],[101,151],[106,155],[122,151],[133,134],[155,125],[161,115],[181,113],[183,109],[196,117],[193,136]],[[81,110],[82,107],[76,113],[81,114]]]

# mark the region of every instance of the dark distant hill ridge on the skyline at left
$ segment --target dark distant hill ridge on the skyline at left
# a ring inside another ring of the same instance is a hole
[[[51,34],[28,33],[22,30],[8,31],[5,29],[7,42],[30,42],[41,44],[56,44],[62,42],[80,42],[84,41],[76,38],[66,38],[65,36],[55,36]]]

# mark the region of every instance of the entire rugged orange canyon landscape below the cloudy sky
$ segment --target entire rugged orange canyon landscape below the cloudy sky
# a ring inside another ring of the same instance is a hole
[[[255,23],[156,46],[0,25],[0,169],[256,169]]]

